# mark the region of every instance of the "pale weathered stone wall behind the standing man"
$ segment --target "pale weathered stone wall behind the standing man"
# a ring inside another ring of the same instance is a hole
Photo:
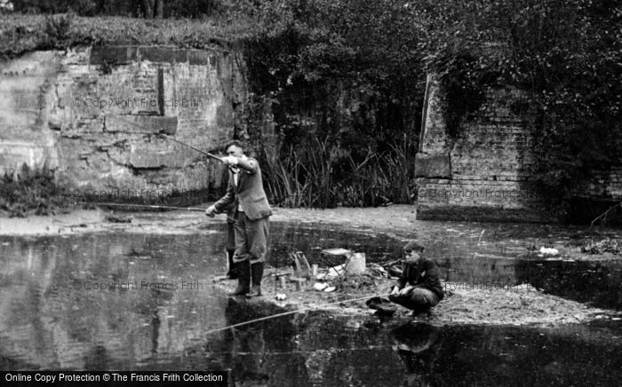
[[[155,133],[207,151],[233,138],[243,91],[232,57],[222,50],[96,46],[5,62],[0,173],[26,163],[57,170],[75,192],[151,201],[218,187],[218,162]]]

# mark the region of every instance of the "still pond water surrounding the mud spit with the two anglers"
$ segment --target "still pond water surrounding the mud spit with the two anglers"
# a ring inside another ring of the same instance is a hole
[[[225,270],[223,232],[224,226],[181,235],[0,237],[0,368],[231,369],[243,384],[288,386],[622,380],[618,320],[550,329],[385,328],[313,312],[206,335],[279,312],[237,303],[213,288],[211,277]],[[529,281],[620,308],[616,262],[543,263],[505,252],[474,259],[473,244],[460,249],[452,238],[443,241],[430,242],[430,253],[445,280]],[[287,265],[292,250],[322,263],[320,251],[335,247],[381,262],[402,246],[402,239],[380,233],[275,223],[268,264]]]

